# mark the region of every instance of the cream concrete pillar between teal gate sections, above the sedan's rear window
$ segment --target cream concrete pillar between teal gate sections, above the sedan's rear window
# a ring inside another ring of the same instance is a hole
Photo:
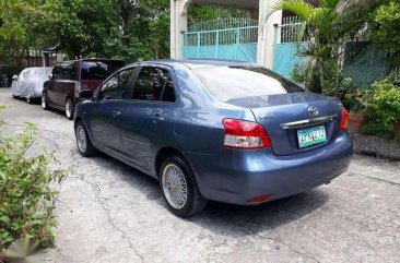
[[[273,69],[275,53],[275,27],[281,24],[282,11],[271,14],[273,7],[279,0],[259,0],[259,32],[257,45],[257,63]]]

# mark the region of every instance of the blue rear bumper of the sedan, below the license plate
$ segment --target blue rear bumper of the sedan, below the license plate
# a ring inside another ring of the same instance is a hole
[[[186,156],[205,199],[249,204],[255,196],[272,194],[277,200],[327,183],[348,169],[352,154],[352,142],[343,132],[323,148],[294,156],[275,156],[270,150]]]

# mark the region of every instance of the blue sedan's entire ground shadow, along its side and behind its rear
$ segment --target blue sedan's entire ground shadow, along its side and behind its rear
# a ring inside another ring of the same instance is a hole
[[[167,212],[158,181],[130,166],[120,163],[106,154],[99,153],[96,157],[98,165],[105,169],[118,167],[121,180],[129,182],[136,190],[146,195],[149,202],[156,202]],[[243,206],[210,201],[203,212],[198,215],[179,218],[196,224],[214,234],[243,237],[274,229],[283,225],[302,219],[303,217],[323,206],[329,194],[320,189],[272,201],[261,205]]]

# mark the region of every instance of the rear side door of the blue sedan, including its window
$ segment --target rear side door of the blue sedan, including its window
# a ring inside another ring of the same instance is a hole
[[[121,139],[129,160],[151,168],[155,145],[174,133],[175,89],[167,67],[141,67],[132,99],[121,108]]]

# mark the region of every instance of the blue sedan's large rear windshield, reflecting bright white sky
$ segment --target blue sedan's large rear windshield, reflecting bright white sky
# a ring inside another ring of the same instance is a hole
[[[264,68],[220,67],[196,69],[193,72],[223,101],[305,92],[303,87]]]

